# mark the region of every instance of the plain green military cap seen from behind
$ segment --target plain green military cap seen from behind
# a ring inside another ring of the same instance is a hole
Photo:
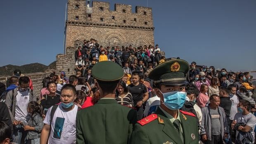
[[[92,76],[104,82],[117,81],[123,78],[123,69],[112,61],[101,61],[92,67]]]

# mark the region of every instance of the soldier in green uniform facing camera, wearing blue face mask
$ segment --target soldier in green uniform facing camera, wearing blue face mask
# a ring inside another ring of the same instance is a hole
[[[186,99],[185,78],[190,66],[175,59],[156,66],[149,78],[161,104],[156,113],[137,121],[130,144],[198,144],[199,132],[193,113],[180,111]]]

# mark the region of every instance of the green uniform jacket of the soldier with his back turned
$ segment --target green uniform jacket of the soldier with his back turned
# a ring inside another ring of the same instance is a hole
[[[115,99],[100,99],[77,112],[76,144],[128,144],[136,121],[134,109]]]

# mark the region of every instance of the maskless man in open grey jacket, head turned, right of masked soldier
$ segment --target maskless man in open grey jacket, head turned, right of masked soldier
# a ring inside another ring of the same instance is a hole
[[[210,104],[202,108],[201,136],[206,144],[223,144],[228,139],[228,122],[223,108],[219,107],[220,97],[213,94]]]

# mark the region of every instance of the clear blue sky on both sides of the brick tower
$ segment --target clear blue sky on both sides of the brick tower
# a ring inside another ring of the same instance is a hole
[[[147,0],[101,0],[147,6]],[[0,66],[55,61],[63,53],[66,0],[0,5]],[[233,71],[256,70],[256,0],[148,0],[166,57]]]

